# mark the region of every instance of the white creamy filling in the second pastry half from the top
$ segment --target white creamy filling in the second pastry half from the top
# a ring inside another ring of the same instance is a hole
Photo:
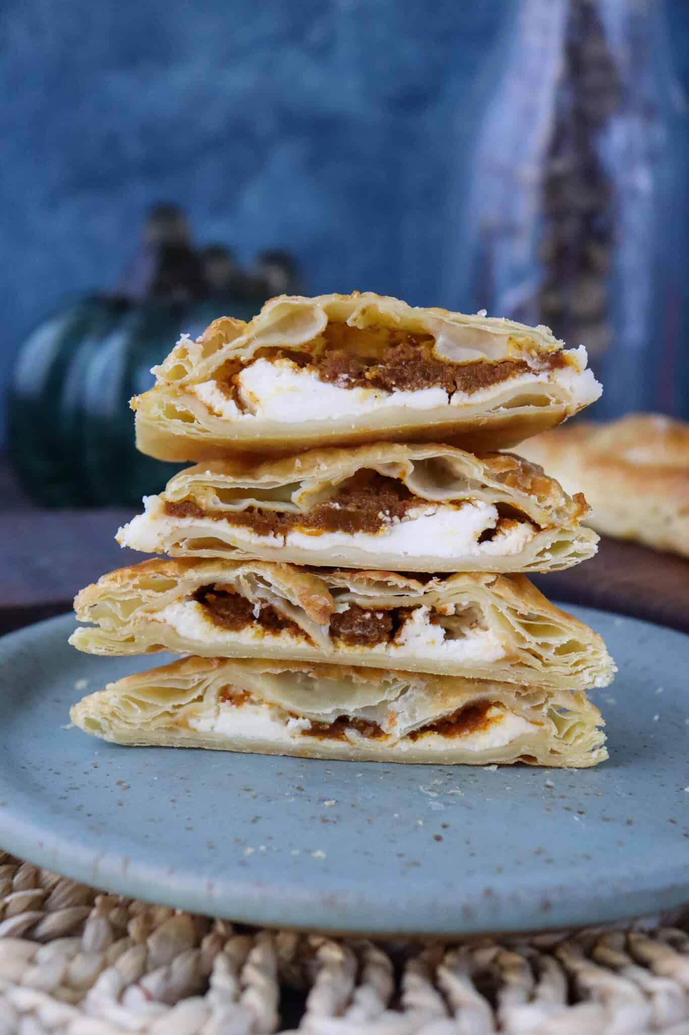
[[[155,496],[144,500],[146,511],[137,514],[129,525],[118,532],[118,542],[146,553],[164,552],[170,535],[179,529],[208,530],[216,537],[220,522],[212,518],[170,518]],[[296,529],[286,534],[258,535],[246,526],[222,523],[223,532],[229,533],[237,546],[265,546],[277,550],[292,546],[307,550],[314,556],[326,554],[337,557],[351,551],[378,556],[392,554],[402,562],[419,553],[431,557],[511,556],[521,553],[531,542],[536,529],[529,523],[510,525],[500,529],[492,539],[479,542],[479,536],[493,529],[498,520],[494,504],[471,501],[462,506],[446,503],[420,503],[407,511],[402,521],[386,524],[379,532],[301,532]]]

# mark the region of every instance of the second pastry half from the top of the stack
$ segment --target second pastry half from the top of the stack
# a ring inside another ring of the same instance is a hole
[[[176,475],[118,541],[174,557],[403,571],[557,571],[598,536],[540,468],[509,453],[376,443]]]

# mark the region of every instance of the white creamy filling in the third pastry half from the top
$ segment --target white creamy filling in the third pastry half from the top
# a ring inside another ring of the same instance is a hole
[[[295,643],[303,643],[301,638],[294,637],[288,629],[274,632],[260,625],[225,629],[221,625],[216,625],[197,600],[178,600],[168,603],[160,611],[151,612],[149,617],[151,621],[169,625],[184,640],[201,643],[205,647],[214,644],[222,647],[227,643],[240,643],[282,644],[293,649]],[[492,629],[471,629],[457,639],[447,639],[443,626],[431,622],[431,609],[427,607],[413,609],[411,618],[403,625],[396,643],[381,643],[373,647],[349,644],[346,648],[342,648],[335,643],[331,646],[333,655],[343,657],[365,654],[369,657],[396,658],[426,654],[434,660],[491,662],[504,657],[505,653],[503,645]],[[315,648],[309,649],[311,651]]]

